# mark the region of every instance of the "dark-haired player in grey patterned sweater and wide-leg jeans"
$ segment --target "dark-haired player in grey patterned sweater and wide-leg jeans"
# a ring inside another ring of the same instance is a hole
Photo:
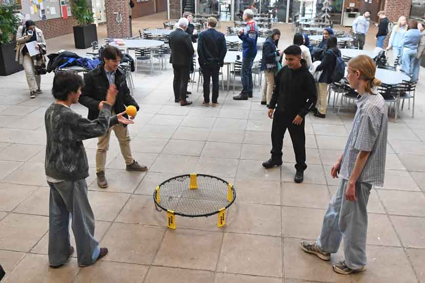
[[[92,265],[108,253],[107,248],[99,248],[94,238],[95,222],[86,182],[89,162],[82,141],[104,135],[115,124],[133,123],[123,117],[125,112],[111,117],[118,93],[115,85],[110,86],[93,121],[72,111],[71,104],[78,103],[82,84],[82,78],[75,73],[57,73],[52,89],[56,102],[45,114],[45,170],[50,187],[49,263],[52,268],[64,266],[74,253],[69,237],[70,218],[79,266]]]

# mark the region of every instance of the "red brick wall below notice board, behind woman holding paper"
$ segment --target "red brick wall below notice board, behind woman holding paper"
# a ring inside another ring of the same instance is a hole
[[[51,38],[60,36],[68,33],[73,33],[73,27],[78,25],[74,17],[68,17],[64,19],[54,18],[48,20],[39,20],[35,22],[37,28],[42,30],[45,38]]]

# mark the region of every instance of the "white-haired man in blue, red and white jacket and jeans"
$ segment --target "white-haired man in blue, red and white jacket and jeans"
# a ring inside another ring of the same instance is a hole
[[[246,27],[239,31],[238,36],[242,40],[242,92],[238,96],[233,96],[235,100],[247,100],[252,97],[252,64],[257,56],[258,27],[252,18],[252,10],[246,9],[243,13]]]

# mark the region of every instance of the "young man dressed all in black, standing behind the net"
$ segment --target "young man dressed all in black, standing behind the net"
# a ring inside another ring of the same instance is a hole
[[[283,137],[288,129],[296,160],[294,181],[301,183],[307,168],[304,118],[315,105],[317,94],[313,76],[308,71],[305,60],[301,58],[301,48],[292,45],[284,53],[286,66],[276,77],[268,111],[268,117],[273,119],[271,158],[263,166],[272,168],[282,165]]]

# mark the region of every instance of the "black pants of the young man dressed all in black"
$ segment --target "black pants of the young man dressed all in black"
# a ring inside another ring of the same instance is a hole
[[[304,171],[306,165],[306,134],[305,119],[301,125],[297,126],[292,123],[296,115],[287,115],[283,112],[275,111],[273,116],[273,124],[271,126],[271,158],[273,160],[282,160],[283,137],[286,129],[291,136],[292,145],[295,153],[295,169]]]

